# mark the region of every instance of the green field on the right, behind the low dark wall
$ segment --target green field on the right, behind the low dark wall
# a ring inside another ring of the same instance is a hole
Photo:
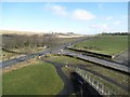
[[[90,52],[115,55],[128,47],[128,36],[102,36],[74,45]]]

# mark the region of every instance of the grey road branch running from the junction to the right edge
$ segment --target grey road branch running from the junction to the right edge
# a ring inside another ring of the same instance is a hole
[[[88,61],[91,61],[91,63],[94,63],[94,64],[99,64],[99,65],[102,65],[102,66],[105,66],[105,67],[108,67],[108,68],[113,68],[113,69],[116,69],[116,70],[119,70],[119,71],[122,71],[122,72],[130,73],[130,68],[129,67],[117,64],[117,63],[100,59],[100,58],[88,56],[88,55],[82,55],[82,54],[79,54],[79,53],[69,52],[69,51],[66,51],[66,50],[64,50],[63,52],[53,51],[52,53],[53,54],[63,54],[63,55],[68,55],[68,56],[76,56],[76,57],[78,57],[80,59],[83,59],[83,60],[88,60]]]

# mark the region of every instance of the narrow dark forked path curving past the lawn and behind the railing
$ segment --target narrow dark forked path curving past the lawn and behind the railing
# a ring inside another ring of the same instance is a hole
[[[47,63],[50,63],[51,65],[53,65],[57,71],[57,74],[60,75],[60,78],[63,80],[64,82],[64,87],[63,89],[60,92],[60,94],[57,95],[57,97],[61,97],[61,95],[69,95],[69,94],[73,94],[74,93],[74,87],[73,87],[73,82],[64,74],[64,72],[62,71],[62,67],[63,66],[66,66],[65,64],[58,64],[58,63],[53,63],[53,61],[49,61],[49,60],[43,60],[43,61],[47,61]],[[75,68],[80,68],[80,69],[83,69],[94,75],[98,75],[100,78],[102,78],[103,80],[112,83],[112,84],[115,84],[117,86],[119,86],[120,88],[125,89],[125,91],[130,91],[130,87],[128,86],[125,86],[120,83],[118,83],[117,81],[108,78],[108,77],[105,77],[103,74],[100,74],[93,70],[90,70],[90,69],[87,69],[88,66],[83,66],[83,65],[67,65],[68,67],[75,67]]]

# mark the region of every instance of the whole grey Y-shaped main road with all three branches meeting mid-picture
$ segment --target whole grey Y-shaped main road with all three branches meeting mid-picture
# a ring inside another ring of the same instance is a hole
[[[84,60],[89,60],[89,61],[92,61],[92,63],[95,63],[95,64],[99,64],[99,65],[103,65],[103,66],[106,66],[106,67],[110,67],[110,68],[117,69],[117,70],[130,73],[130,68],[127,67],[127,66],[123,66],[123,65],[120,65],[120,64],[117,64],[117,63],[113,63],[113,61],[108,61],[108,60],[104,60],[104,59],[99,59],[99,58],[92,57],[92,56],[87,56],[87,55],[82,55],[82,54],[78,54],[78,53],[73,53],[73,52],[64,50],[66,46],[69,46],[70,44],[75,44],[75,43],[81,42],[83,40],[90,40],[90,39],[92,39],[92,38],[82,39],[82,40],[75,41],[75,42],[72,42],[72,43],[64,43],[63,45],[60,45],[60,46],[54,47],[52,50],[46,50],[46,51],[38,52],[38,53],[35,53],[35,54],[22,56],[20,58],[4,60],[4,61],[0,63],[0,68],[5,68],[5,67],[9,67],[11,65],[15,65],[17,63],[34,58],[35,56],[40,56],[40,55],[46,55],[46,54],[52,53],[52,54],[64,54],[64,55],[69,55],[69,56],[76,56],[76,57],[84,59]],[[61,52],[61,50],[64,50],[64,51]]]

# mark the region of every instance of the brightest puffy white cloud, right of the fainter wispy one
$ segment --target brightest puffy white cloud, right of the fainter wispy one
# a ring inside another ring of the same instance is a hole
[[[70,14],[69,14],[70,15]],[[95,16],[83,9],[77,9],[72,12],[72,17],[79,20],[89,20],[93,19]]]

